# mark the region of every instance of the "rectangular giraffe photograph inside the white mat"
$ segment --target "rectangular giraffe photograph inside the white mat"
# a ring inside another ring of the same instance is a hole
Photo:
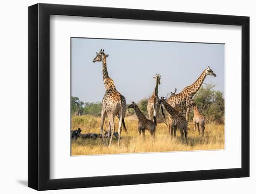
[[[225,44],[71,37],[71,156],[225,149]]]

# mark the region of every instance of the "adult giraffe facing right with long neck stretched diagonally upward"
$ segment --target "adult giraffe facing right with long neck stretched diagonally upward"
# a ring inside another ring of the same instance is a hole
[[[182,113],[183,110],[186,110],[186,120],[188,123],[189,111],[193,103],[193,96],[200,89],[207,75],[213,75],[214,77],[216,77],[216,74],[208,66],[208,68],[206,68],[202,72],[199,78],[192,85],[185,87],[179,94],[173,94],[167,99],[168,104],[174,107],[175,109],[182,111]]]

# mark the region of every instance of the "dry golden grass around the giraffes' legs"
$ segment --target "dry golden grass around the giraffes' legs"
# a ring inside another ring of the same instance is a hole
[[[146,138],[143,141],[138,135],[137,118],[126,117],[126,126],[129,134],[121,133],[120,146],[117,139],[113,137],[111,147],[104,146],[102,139],[82,139],[72,141],[72,155],[91,154],[121,154],[121,153],[146,153],[146,152],[170,152],[188,150],[215,150],[224,149],[224,125],[208,123],[205,126],[204,137],[199,136],[197,130],[193,136],[192,123],[189,125],[188,144],[181,141],[179,130],[177,137],[171,138],[164,123],[157,124],[156,140],[152,140],[149,132],[146,131]],[[115,119],[117,131],[118,119]],[[100,133],[100,118],[89,115],[76,116],[72,118],[72,130],[81,127],[81,133]],[[104,125],[106,129],[108,126]]]

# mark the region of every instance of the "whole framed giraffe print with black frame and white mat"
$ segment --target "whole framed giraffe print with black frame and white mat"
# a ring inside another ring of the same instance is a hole
[[[28,7],[28,186],[249,176],[249,17]]]

